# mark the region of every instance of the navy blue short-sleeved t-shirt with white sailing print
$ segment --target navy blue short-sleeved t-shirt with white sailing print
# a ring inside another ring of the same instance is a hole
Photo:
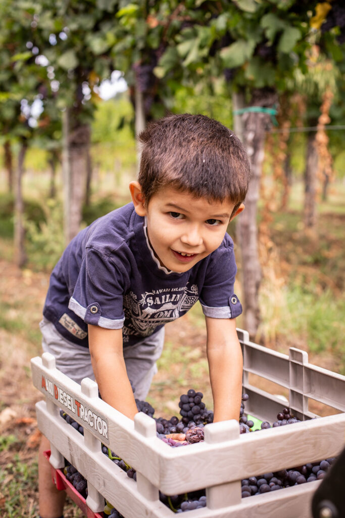
[[[124,347],[157,332],[199,299],[213,318],[235,318],[233,241],[178,274],[159,264],[146,220],[130,203],[84,228],[53,269],[43,315],[68,340],[88,347],[87,324],[121,329]]]

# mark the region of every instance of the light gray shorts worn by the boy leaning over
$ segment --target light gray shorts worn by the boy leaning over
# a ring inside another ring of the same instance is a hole
[[[58,333],[54,324],[44,317],[39,327],[42,333],[43,352],[49,352],[55,356],[57,369],[79,384],[83,378],[95,380],[88,348],[78,346],[64,338]],[[143,338],[134,346],[123,349],[127,375],[136,388],[134,397],[142,401],[145,400],[152,378],[157,372],[156,361],[162,353],[163,342],[164,327],[154,335]]]

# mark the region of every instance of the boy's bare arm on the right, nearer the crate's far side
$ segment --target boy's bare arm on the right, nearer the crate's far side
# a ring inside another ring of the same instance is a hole
[[[242,399],[243,356],[236,333],[236,319],[208,316],[207,360],[211,381],[214,422],[239,419]]]

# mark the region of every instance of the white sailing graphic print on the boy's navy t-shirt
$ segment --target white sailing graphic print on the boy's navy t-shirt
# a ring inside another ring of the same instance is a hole
[[[186,313],[198,300],[197,284],[188,284],[145,292],[139,299],[133,292],[124,295],[124,342],[128,341],[128,335],[152,335],[156,327]]]

